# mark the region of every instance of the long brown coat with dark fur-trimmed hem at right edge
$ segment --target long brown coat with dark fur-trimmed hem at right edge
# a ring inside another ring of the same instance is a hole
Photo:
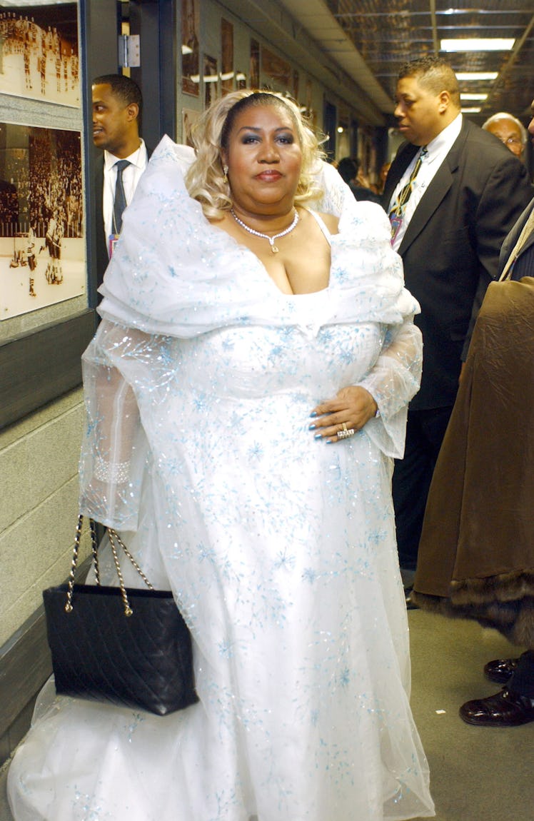
[[[413,600],[534,649],[534,279],[490,285],[430,487]]]

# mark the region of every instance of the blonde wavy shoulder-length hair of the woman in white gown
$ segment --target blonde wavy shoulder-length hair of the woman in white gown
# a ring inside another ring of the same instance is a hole
[[[200,202],[205,216],[222,219],[232,208],[232,190],[223,172],[222,151],[228,147],[228,138],[239,112],[251,106],[274,105],[289,112],[302,150],[302,169],[295,202],[302,204],[317,200],[322,191],[315,184],[313,174],[325,154],[311,128],[302,118],[296,103],[272,91],[242,89],[216,100],[191,129],[196,160],[186,174],[189,195]]]

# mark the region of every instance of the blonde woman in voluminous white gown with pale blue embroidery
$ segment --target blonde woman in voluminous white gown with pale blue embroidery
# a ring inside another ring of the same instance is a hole
[[[428,817],[390,496],[417,303],[292,103],[228,94],[198,134],[191,196],[163,138],[106,273],[81,509],[173,590],[200,701],[159,718],[50,683],[14,817]]]

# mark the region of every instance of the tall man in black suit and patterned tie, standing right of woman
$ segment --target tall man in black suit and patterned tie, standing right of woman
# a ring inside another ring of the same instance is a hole
[[[395,117],[407,139],[392,163],[383,204],[406,286],[421,304],[421,390],[408,410],[404,459],[394,470],[403,582],[409,593],[435,460],[460,377],[468,331],[499,249],[530,200],[527,170],[490,134],[464,120],[458,81],[440,57],[400,71]],[[417,176],[416,176],[417,175]],[[407,194],[409,191],[409,194]]]

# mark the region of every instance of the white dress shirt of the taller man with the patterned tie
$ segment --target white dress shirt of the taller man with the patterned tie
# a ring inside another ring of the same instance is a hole
[[[398,246],[403,241],[403,236],[406,233],[408,225],[410,224],[413,213],[417,209],[417,205],[421,202],[422,195],[425,193],[428,186],[430,186],[430,182],[434,179],[441,163],[443,163],[444,158],[447,154],[449,154],[450,149],[452,149],[453,144],[458,139],[461,128],[462,115],[458,114],[458,117],[455,117],[453,122],[450,122],[449,125],[446,126],[443,131],[440,131],[440,134],[438,134],[434,140],[430,140],[430,143],[426,146],[428,154],[426,154],[426,157],[421,159],[421,168],[412,183],[412,194],[410,195],[410,199],[407,201],[406,209],[403,213],[403,222],[398,228],[398,232],[393,242],[394,250],[398,250]],[[398,185],[393,192],[391,200],[389,200],[388,213],[394,207],[399,191],[403,190],[403,187],[410,179],[410,175],[412,174],[415,164],[417,163],[419,154],[421,154],[421,151],[417,151],[417,154],[415,154],[412,162],[407,166],[406,171],[398,181]]]

